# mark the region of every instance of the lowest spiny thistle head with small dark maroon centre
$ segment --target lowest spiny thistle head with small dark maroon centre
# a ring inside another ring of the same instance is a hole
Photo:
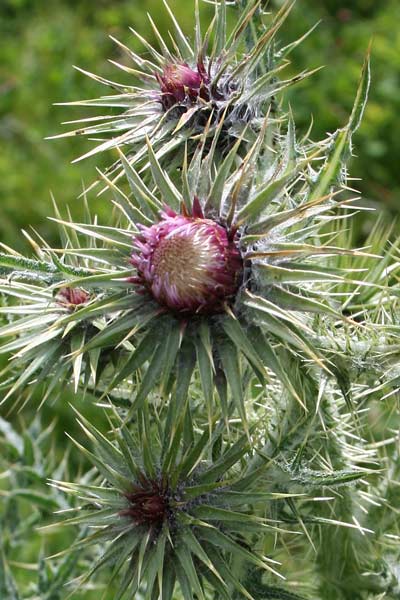
[[[102,547],[85,579],[103,567],[112,569],[111,581],[120,573],[118,599],[133,599],[140,588],[147,597],[171,600],[178,587],[185,599],[195,594],[205,600],[208,589],[217,590],[221,600],[231,600],[236,590],[250,598],[232,558],[277,574],[278,563],[263,555],[261,541],[269,533],[275,538],[279,524],[264,515],[274,514],[274,502],[295,494],[271,486],[265,491],[262,474],[269,462],[251,468],[246,435],[225,444],[224,426],[210,436],[185,425],[184,435],[182,416],[177,427],[158,427],[155,421],[155,416],[152,426],[145,421],[136,439],[118,419],[110,441],[79,415],[93,449],[76,445],[100,477],[90,485],[54,484],[84,502],[66,524],[96,525],[93,535],[78,541],[79,548]],[[210,461],[218,442],[218,457]]]

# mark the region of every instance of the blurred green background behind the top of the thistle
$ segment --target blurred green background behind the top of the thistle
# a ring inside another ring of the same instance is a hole
[[[276,8],[280,3],[274,0],[269,6]],[[190,35],[191,2],[171,0],[170,4]],[[82,182],[92,181],[95,166],[105,166],[110,157],[71,165],[71,160],[91,147],[90,142],[44,138],[65,131],[60,122],[83,116],[83,109],[53,103],[106,92],[74,70],[73,64],[123,80],[124,74],[116,74],[107,60],[121,58],[108,36],[143,51],[128,27],[152,40],[146,11],[155,15],[165,32],[169,24],[160,0],[1,0],[0,240],[4,243],[23,248],[19,230],[28,225],[54,240],[54,226],[46,222],[52,213],[50,190],[61,204],[68,202],[79,214],[76,198]],[[212,7],[203,5],[205,21],[211,11]],[[388,218],[392,218],[400,210],[400,2],[297,0],[281,32],[282,44],[319,20],[318,28],[294,53],[293,70],[326,67],[293,88],[288,100],[301,130],[313,116],[315,139],[341,126],[351,109],[363,57],[373,38],[373,87],[355,140],[358,158],[353,161],[352,174],[363,179],[364,197],[389,211]],[[106,219],[105,200],[94,198],[91,202]]]

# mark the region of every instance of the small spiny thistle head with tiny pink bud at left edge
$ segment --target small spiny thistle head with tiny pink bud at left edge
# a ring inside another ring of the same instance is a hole
[[[69,239],[66,245],[71,243]],[[55,263],[61,265],[58,260]],[[86,319],[86,311],[91,301],[101,297],[101,291],[93,293],[92,288],[89,292],[89,282],[84,288],[72,282],[78,274],[92,272],[78,267],[74,258],[68,258],[60,271],[55,263],[14,256],[8,260],[10,283],[0,278],[0,293],[6,293],[11,302],[23,299],[23,304],[14,310],[25,315],[21,323],[16,319],[0,327],[0,353],[14,354],[14,360],[3,372],[7,374],[4,402],[10,397],[18,397],[21,402],[31,396],[37,398],[39,390],[45,402],[49,397],[56,398],[70,382],[77,390],[90,364],[83,347],[96,327]],[[7,311],[12,308],[7,307]],[[19,376],[18,371],[24,376]]]

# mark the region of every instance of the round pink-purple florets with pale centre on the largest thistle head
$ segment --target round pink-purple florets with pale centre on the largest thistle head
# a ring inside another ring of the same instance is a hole
[[[161,221],[141,227],[132,263],[136,283],[161,305],[177,312],[217,313],[238,289],[242,259],[225,227],[166,208]]]

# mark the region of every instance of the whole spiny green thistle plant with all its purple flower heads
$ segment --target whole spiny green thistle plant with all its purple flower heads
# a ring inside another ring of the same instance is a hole
[[[124,110],[74,132],[109,135],[89,152],[114,151],[107,223],[86,191],[81,222],[55,205],[59,247],[0,255],[1,406],[81,428],[71,465],[20,483],[36,431],[0,421],[7,505],[47,482],[44,539],[76,532],[27,589],[3,543],[10,598],[398,598],[400,241],[378,220],[354,247],[349,225],[369,55],[347,123],[315,142],[279,95],[306,75],[280,79],[303,41],[276,39],[290,7],[214,7],[202,36],[195,5],[192,47],[166,5],[174,37],[150,19],[159,49],[119,44],[129,86],[93,76],[118,93],[73,103]]]

